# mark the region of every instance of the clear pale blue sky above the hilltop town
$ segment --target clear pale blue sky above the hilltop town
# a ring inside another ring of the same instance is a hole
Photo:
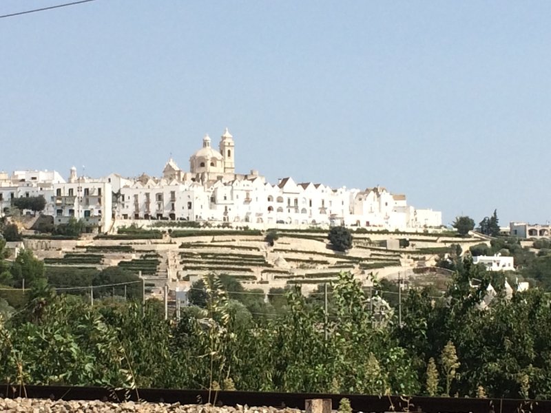
[[[0,14],[64,0],[2,0]],[[0,19],[0,170],[240,172],[551,220],[551,1],[96,0]]]

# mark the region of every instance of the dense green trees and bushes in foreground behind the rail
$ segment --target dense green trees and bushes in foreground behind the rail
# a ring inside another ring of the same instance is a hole
[[[60,295],[43,266],[23,257],[16,268],[32,289],[12,310],[0,306],[6,383],[551,396],[548,297],[538,288],[507,297],[503,273],[469,260],[444,296],[404,293],[400,325],[377,313],[348,273],[331,284],[326,313],[320,294],[273,290],[265,303],[229,276],[205,277],[194,286],[199,305],[177,322],[165,321],[158,301],[142,307],[115,295],[91,306],[85,295]],[[497,295],[480,310],[490,282]]]

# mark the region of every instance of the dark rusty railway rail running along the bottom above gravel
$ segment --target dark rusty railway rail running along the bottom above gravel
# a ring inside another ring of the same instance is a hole
[[[446,397],[366,396],[360,394],[224,392],[209,394],[208,390],[137,389],[121,390],[78,386],[1,385],[0,396],[29,399],[148,401],[151,403],[181,403],[216,405],[249,405],[293,407],[304,410],[306,399],[331,399],[333,409],[346,397],[355,412],[423,412],[423,413],[548,413],[551,401],[518,399],[468,399]],[[209,399],[210,397],[210,399]]]

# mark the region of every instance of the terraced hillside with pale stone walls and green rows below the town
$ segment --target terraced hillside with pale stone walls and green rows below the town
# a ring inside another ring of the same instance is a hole
[[[161,236],[159,233],[156,231],[154,237],[142,231],[132,237],[25,240],[25,245],[49,268],[59,266],[64,273],[73,267],[107,266],[140,273],[148,292],[155,295],[165,284],[171,290],[185,290],[203,274],[212,272],[232,275],[245,287],[266,292],[293,284],[313,290],[335,279],[340,271],[351,271],[365,285],[369,285],[372,275],[419,278],[424,273],[419,268],[433,266],[438,255],[450,251],[452,244],[461,245],[465,251],[470,245],[486,241],[441,234],[358,231],[354,233],[353,248],[339,253],[331,249],[327,231],[322,230],[278,229],[273,245],[260,231],[190,229]]]

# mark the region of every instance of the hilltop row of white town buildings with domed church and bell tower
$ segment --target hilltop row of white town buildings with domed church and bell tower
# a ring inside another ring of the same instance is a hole
[[[13,197],[43,194],[48,201],[45,213],[54,215],[56,224],[82,218],[104,232],[113,219],[344,224],[389,230],[441,226],[440,212],[410,207],[405,195],[382,187],[332,189],[290,177],[271,184],[258,171],[236,173],[235,142],[227,129],[218,148],[205,136],[189,158],[189,171],[169,159],[162,178],[112,173],[92,180],[79,177],[74,167],[68,182],[56,172],[17,171],[9,179],[0,174],[0,201],[5,205]]]

